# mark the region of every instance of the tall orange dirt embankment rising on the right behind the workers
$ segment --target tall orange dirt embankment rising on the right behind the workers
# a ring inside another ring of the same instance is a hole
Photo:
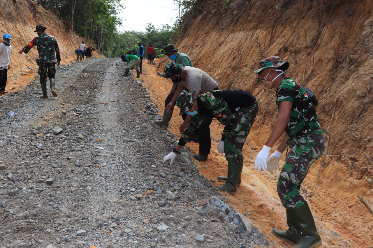
[[[257,154],[253,149],[265,143],[277,118],[275,92],[264,89],[253,70],[270,55],[289,61],[287,76],[316,93],[317,114],[322,126],[330,129],[325,165],[319,175],[322,159],[314,163],[303,184],[307,200],[322,221],[371,247],[372,213],[357,195],[373,205],[373,2],[283,3],[235,0],[226,8],[221,1],[203,1],[173,42],[219,88],[248,90],[258,98],[260,112],[244,149],[245,164],[251,168]],[[168,62],[164,58],[159,69]],[[213,157],[210,162],[214,163],[210,167],[204,164],[206,171],[200,169],[214,178],[220,170],[216,166],[219,160]],[[256,187],[260,187],[274,197],[259,197],[264,204],[260,208],[282,215],[279,200],[276,202],[276,175],[250,170],[247,178],[246,198],[257,195]],[[277,220],[285,223],[283,216]],[[263,218],[261,225],[270,233],[276,224],[265,221]]]

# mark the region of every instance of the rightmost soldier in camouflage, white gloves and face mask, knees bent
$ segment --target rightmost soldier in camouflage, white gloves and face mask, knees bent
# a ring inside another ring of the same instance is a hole
[[[276,104],[279,116],[267,142],[258,153],[255,167],[258,170],[277,168],[281,153],[286,145],[290,152],[280,172],[277,191],[286,209],[289,229],[273,228],[275,236],[297,244],[296,248],[319,247],[322,241],[317,233],[313,216],[307,201],[300,195],[301,184],[311,164],[319,159],[326,146],[316,109],[308,100],[305,90],[285,76],[289,62],[282,62],[278,56],[268,57],[260,62],[260,69],[254,71],[263,77],[267,89],[276,89]],[[276,140],[283,134],[276,151],[268,158]],[[268,159],[267,159],[268,158]]]

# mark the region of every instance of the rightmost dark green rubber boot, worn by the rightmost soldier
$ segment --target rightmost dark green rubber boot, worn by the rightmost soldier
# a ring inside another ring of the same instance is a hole
[[[300,241],[295,248],[316,248],[321,246],[322,241],[307,201],[301,207],[291,209],[290,213],[302,232]]]

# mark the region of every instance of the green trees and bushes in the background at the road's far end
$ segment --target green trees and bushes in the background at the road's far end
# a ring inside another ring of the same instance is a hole
[[[122,25],[118,14],[125,8],[120,0],[31,0],[40,3],[44,9],[55,13],[65,23],[65,28],[94,42],[96,48],[107,57],[119,57],[129,50],[137,50],[138,40],[144,50],[148,44],[156,48],[157,57],[163,57],[163,47],[169,44],[174,27],[164,25],[155,29],[148,23],[146,32],[118,32]],[[192,1],[189,1],[192,2]]]

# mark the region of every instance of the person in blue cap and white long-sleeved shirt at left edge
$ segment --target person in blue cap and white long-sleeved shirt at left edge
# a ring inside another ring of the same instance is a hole
[[[0,94],[6,94],[6,81],[8,70],[10,68],[10,54],[12,53],[12,45],[10,45],[10,35],[3,35],[3,43],[0,44]]]

